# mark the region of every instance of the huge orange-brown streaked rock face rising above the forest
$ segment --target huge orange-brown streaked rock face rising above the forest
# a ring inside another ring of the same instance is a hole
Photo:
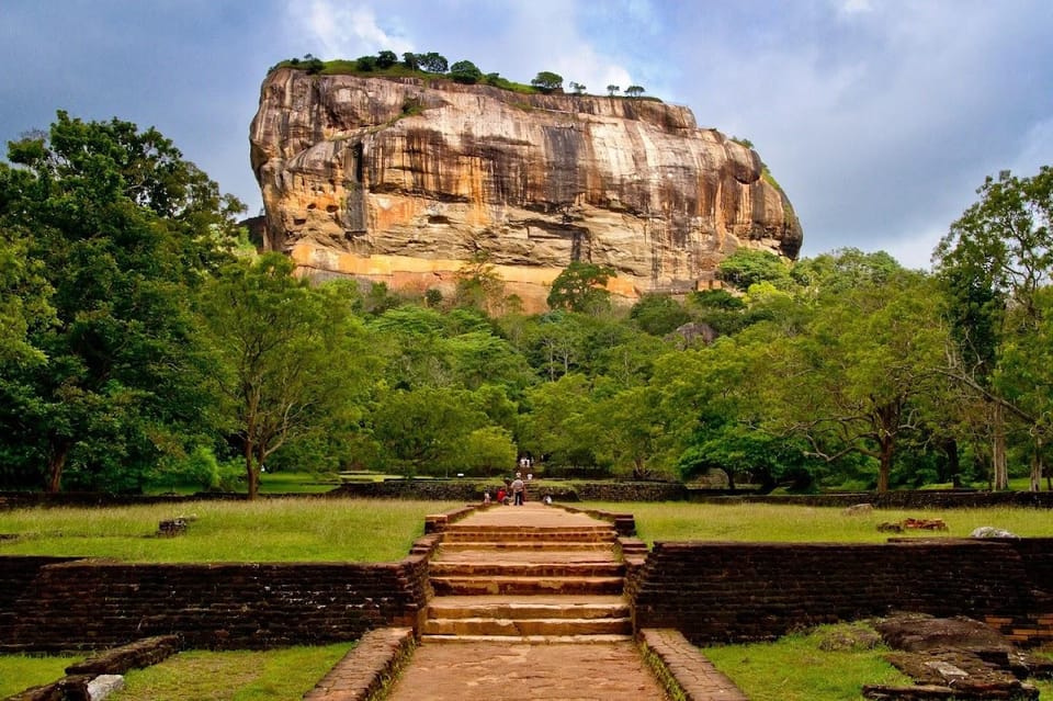
[[[250,140],[265,248],[396,289],[449,292],[485,253],[537,310],[573,260],[635,298],[709,286],[738,247],[802,242],[755,151],[650,100],[282,68]]]

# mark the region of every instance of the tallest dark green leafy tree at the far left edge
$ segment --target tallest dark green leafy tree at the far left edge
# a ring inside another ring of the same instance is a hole
[[[21,260],[2,306],[21,338],[0,368],[0,461],[44,466],[53,491],[137,488],[208,430],[188,301],[242,207],[156,129],[118,120],[59,112],[9,158],[0,250]]]

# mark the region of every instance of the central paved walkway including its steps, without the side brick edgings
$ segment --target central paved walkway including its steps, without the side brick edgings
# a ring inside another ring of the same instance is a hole
[[[432,619],[457,615],[458,609],[465,609],[461,615],[468,618],[429,622],[430,629],[460,632],[442,636],[445,642],[426,635],[388,700],[461,701],[487,696],[502,701],[666,699],[636,645],[624,634],[602,634],[627,625],[619,622],[627,619],[610,618],[627,615],[621,593],[559,593],[558,587],[576,573],[621,567],[613,539],[609,523],[540,502],[496,506],[452,524],[432,561],[437,589],[442,575],[453,569],[464,579],[480,583],[521,578],[525,590],[485,593],[482,585],[462,583],[462,588],[467,587],[465,593],[475,596],[433,599]],[[534,575],[553,581],[534,581]],[[564,617],[576,621],[568,623]],[[472,634],[476,627],[484,633]],[[513,634],[502,635],[506,630]],[[542,634],[523,634],[530,631]],[[589,634],[565,634],[576,631]],[[571,638],[575,642],[566,642]]]

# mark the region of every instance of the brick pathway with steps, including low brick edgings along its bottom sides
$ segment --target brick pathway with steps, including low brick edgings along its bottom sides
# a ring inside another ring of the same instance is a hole
[[[614,541],[607,523],[536,502],[444,524],[431,559],[439,596],[429,603],[420,646],[385,699],[666,700],[630,636]],[[367,698],[392,669],[374,653],[389,648],[394,658],[405,649],[404,631],[375,637],[307,698]],[[678,698],[746,699],[676,631],[645,631],[643,642],[663,677],[679,682]]]

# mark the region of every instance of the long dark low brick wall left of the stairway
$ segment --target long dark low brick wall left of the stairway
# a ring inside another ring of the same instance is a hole
[[[100,648],[166,634],[213,648],[348,641],[416,625],[428,596],[427,552],[378,564],[35,559],[35,575],[23,577],[0,614],[2,651]],[[32,565],[0,557],[4,573]]]

